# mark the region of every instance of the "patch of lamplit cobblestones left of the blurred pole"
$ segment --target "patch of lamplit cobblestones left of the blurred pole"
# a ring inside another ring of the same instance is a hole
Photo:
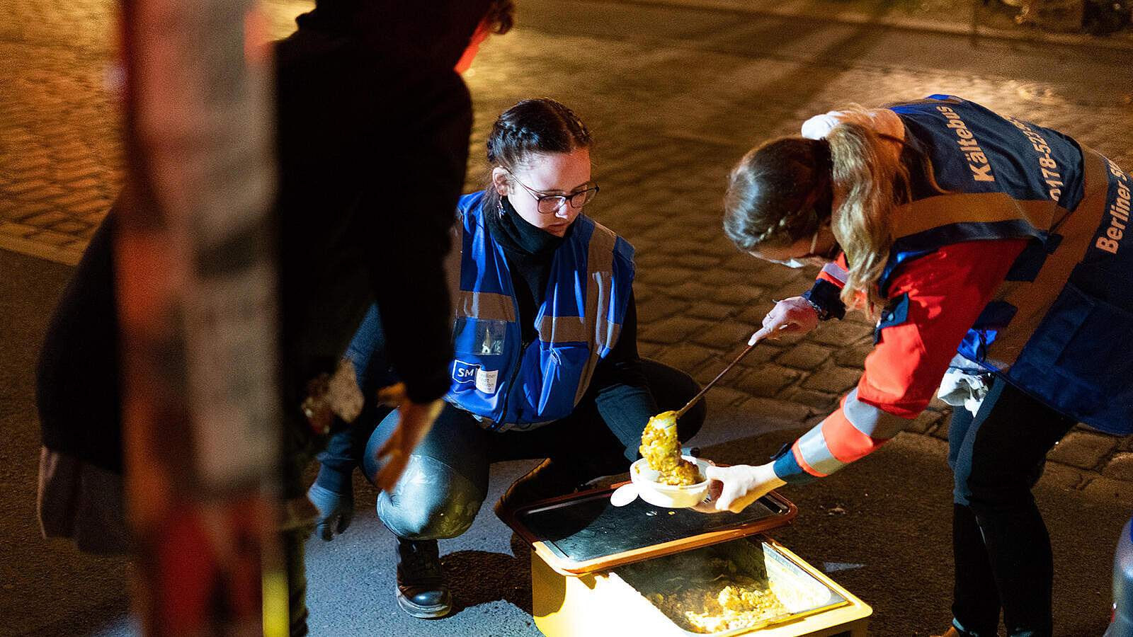
[[[113,2],[5,2],[0,247],[75,263],[121,182]]]

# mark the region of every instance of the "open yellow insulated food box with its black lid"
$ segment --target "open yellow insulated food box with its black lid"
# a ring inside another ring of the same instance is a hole
[[[613,507],[616,486],[504,516],[533,546],[533,615],[547,637],[866,637],[869,605],[766,535],[798,512],[777,493],[741,513],[705,515],[641,500]],[[681,611],[714,581],[775,602],[750,623],[698,629]],[[685,605],[674,608],[679,597]]]

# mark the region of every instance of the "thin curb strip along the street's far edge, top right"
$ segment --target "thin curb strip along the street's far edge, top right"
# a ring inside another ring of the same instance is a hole
[[[598,1],[598,0],[594,0]],[[944,33],[952,35],[965,35],[972,40],[981,37],[994,40],[1008,40],[1015,42],[1029,42],[1033,44],[1059,44],[1065,46],[1087,46],[1091,49],[1113,49],[1117,51],[1133,51],[1133,35],[1127,39],[1113,39],[1109,36],[1096,36],[1076,33],[1048,33],[1038,29],[1004,29],[994,28],[979,24],[961,24],[956,22],[942,22],[934,18],[913,18],[877,16],[862,14],[860,11],[830,11],[825,7],[817,6],[808,0],[792,0],[777,6],[755,6],[751,0],[612,0],[620,5],[650,5],[664,7],[684,7],[690,9],[706,9],[710,11],[731,11],[748,14],[752,16],[774,17],[803,17],[820,20],[830,20],[852,25],[879,25],[906,31],[923,31]],[[969,11],[968,8],[964,8]],[[971,7],[976,10],[976,6]],[[969,16],[971,12],[968,14]]]

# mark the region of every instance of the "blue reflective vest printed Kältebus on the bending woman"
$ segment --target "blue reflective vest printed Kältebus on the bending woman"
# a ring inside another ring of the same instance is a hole
[[[960,354],[1079,422],[1133,432],[1130,176],[1060,133],[959,97],[892,110],[947,194],[914,185],[898,209],[881,295],[898,264],[939,246],[1031,238]],[[902,303],[883,315],[883,338],[905,320]]]

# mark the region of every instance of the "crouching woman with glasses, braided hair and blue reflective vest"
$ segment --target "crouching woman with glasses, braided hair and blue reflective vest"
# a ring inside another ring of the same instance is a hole
[[[545,459],[511,485],[497,513],[570,493],[628,470],[649,416],[680,408],[699,389],[687,374],[638,357],[633,247],[582,214],[598,193],[591,144],[566,107],[520,102],[488,136],[488,188],[460,199],[449,274],[454,358],[438,380],[449,391],[404,474],[377,500],[378,517],[398,536],[398,602],[414,617],[451,609],[436,541],[471,526],[492,462]],[[367,400],[395,380],[385,349],[411,346],[384,342],[372,308],[348,355]],[[383,416],[359,452],[366,423]],[[704,407],[690,410],[678,436],[688,440],[704,417]],[[373,482],[387,461],[381,447],[412,435],[397,423],[395,413],[367,406],[322,456],[309,495],[324,540],[349,524],[359,458]]]

